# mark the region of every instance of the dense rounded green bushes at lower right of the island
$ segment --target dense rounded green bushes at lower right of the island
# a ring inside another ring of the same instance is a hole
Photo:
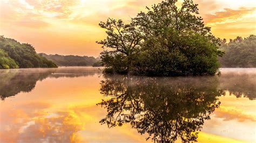
[[[218,70],[217,46],[198,33],[179,35],[166,30],[164,37],[145,41],[137,71],[143,75],[213,75]],[[150,47],[150,48],[149,48]]]

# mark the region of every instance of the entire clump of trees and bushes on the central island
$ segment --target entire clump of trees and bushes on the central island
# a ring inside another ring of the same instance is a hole
[[[139,75],[213,75],[219,68],[219,41],[198,17],[197,4],[163,1],[122,20],[100,23],[107,38],[99,41],[105,72]]]

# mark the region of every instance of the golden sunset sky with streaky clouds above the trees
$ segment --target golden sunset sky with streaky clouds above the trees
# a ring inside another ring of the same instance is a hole
[[[89,55],[103,51],[98,26],[108,17],[124,19],[160,0],[0,0],[0,35],[32,44],[38,53]],[[178,4],[182,1],[179,0]],[[256,34],[255,0],[195,0],[215,37]]]

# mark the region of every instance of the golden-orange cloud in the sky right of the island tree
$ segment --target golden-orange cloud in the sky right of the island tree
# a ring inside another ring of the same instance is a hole
[[[233,39],[256,33],[255,15],[255,8],[224,9],[213,15],[206,15],[204,21],[207,26],[212,27],[215,37]]]

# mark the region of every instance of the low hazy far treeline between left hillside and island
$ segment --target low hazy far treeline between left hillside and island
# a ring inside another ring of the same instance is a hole
[[[78,55],[48,55],[41,53],[46,59],[55,62],[58,66],[100,66],[100,59],[93,56],[78,56]]]

